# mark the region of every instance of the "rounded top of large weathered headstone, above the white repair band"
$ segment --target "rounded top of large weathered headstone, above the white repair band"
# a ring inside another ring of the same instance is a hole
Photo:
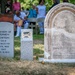
[[[75,33],[75,5],[60,3],[54,6],[46,15],[45,28],[62,28]]]

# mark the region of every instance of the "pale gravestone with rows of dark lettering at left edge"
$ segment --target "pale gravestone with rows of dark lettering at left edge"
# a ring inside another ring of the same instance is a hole
[[[0,57],[14,57],[14,25],[0,22]]]

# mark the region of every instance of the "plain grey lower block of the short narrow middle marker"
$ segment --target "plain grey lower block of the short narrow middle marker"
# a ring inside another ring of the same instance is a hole
[[[21,59],[33,60],[33,42],[32,41],[21,42]]]

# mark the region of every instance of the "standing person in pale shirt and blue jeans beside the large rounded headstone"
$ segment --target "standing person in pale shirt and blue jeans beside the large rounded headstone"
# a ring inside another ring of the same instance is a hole
[[[46,6],[44,5],[45,0],[39,0],[39,5],[36,8],[37,19],[45,18],[46,16]],[[44,22],[39,22],[40,34],[44,34]]]

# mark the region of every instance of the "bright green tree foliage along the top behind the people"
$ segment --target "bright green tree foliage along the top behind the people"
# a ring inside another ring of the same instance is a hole
[[[31,4],[34,5],[38,5],[38,1],[39,0],[18,0],[19,2],[21,2],[21,7],[26,8],[31,8]],[[60,0],[60,2],[62,2],[62,0]],[[75,0],[69,0],[70,3],[75,4]],[[53,4],[52,0],[45,0],[45,5],[47,7],[47,10],[51,7],[51,5]]]

